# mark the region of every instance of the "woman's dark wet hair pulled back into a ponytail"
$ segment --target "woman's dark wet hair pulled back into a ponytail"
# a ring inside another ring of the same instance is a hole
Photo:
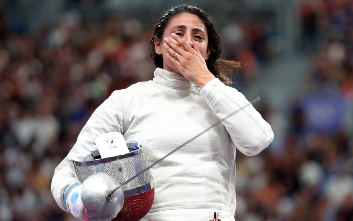
[[[208,33],[208,48],[211,48],[209,57],[206,60],[207,68],[215,77],[219,78],[226,85],[232,84],[232,80],[228,77],[231,69],[227,68],[227,66],[232,68],[240,68],[240,62],[232,60],[219,60],[221,55],[221,40],[212,19],[206,12],[191,5],[179,5],[171,8],[166,11],[156,23],[153,37],[150,42],[150,55],[154,60],[156,67],[163,68],[163,58],[162,55],[156,53],[154,42],[155,40],[160,41],[162,39],[164,30],[168,26],[170,20],[181,13],[195,14],[204,23]]]

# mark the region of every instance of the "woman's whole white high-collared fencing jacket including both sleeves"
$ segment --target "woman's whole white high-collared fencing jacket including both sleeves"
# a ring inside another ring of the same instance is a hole
[[[52,193],[61,209],[66,211],[66,189],[78,182],[68,160],[79,161],[95,150],[97,136],[122,133],[126,143],[144,147],[152,164],[237,111],[151,168],[155,199],[150,213],[218,209],[234,214],[235,147],[248,156],[259,153],[273,140],[270,125],[243,94],[217,78],[201,90],[178,73],[157,68],[154,75],[152,81],[113,92],[92,114],[55,169]]]

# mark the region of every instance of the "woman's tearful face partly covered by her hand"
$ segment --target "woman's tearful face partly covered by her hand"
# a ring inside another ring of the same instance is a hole
[[[155,51],[163,57],[163,69],[172,72],[179,72],[178,68],[167,58],[167,49],[163,47],[164,37],[178,44],[178,42],[171,36],[172,33],[177,34],[189,43],[194,50],[196,50],[195,42],[198,41],[198,47],[202,57],[205,60],[208,59],[211,49],[207,48],[208,35],[204,23],[195,14],[182,13],[171,19],[168,26],[164,30],[161,41],[155,41]],[[171,56],[173,56],[173,54],[171,54]]]

